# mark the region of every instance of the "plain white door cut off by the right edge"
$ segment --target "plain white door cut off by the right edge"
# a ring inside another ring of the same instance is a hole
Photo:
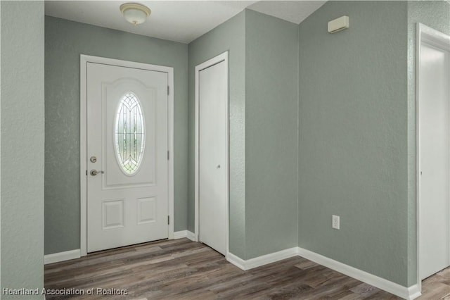
[[[420,279],[450,265],[450,55],[421,44]]]

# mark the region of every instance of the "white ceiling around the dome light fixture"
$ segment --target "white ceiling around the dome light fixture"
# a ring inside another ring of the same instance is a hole
[[[141,25],[131,25],[119,6],[127,1],[49,1],[45,14],[188,44],[229,18],[250,8],[299,24],[326,1],[139,1],[152,10]]]

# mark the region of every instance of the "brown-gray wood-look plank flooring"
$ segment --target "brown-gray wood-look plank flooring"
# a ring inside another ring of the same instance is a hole
[[[425,294],[421,299],[448,300],[449,284],[450,269],[428,278],[423,290],[432,298]],[[128,246],[46,265],[45,288],[84,292],[47,294],[46,299],[399,299],[301,257],[243,271],[188,239]],[[97,294],[98,288],[105,295]],[[88,295],[90,291],[93,294]]]

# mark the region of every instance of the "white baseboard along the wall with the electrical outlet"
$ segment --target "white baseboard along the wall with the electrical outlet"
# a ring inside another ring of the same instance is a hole
[[[378,287],[378,289],[383,289],[384,291],[390,292],[391,294],[399,296],[403,299],[412,300],[420,296],[418,285],[413,285],[412,287],[403,287],[395,282],[385,280],[384,278],[364,272],[363,270],[353,268],[349,265],[346,265],[345,263],[340,263],[339,261],[335,261],[326,256],[321,256],[320,254],[316,254],[312,251],[302,249],[300,247],[298,248],[298,255],[309,259],[309,261],[314,261],[315,263],[319,263],[320,265],[323,265],[327,268],[345,274],[349,277],[353,277],[362,282],[366,282],[368,285],[373,285],[374,287]]]

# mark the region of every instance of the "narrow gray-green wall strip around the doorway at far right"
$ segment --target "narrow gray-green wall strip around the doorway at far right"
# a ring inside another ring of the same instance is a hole
[[[416,247],[416,26],[423,23],[450,35],[450,3],[446,1],[408,2],[408,286],[417,282]]]

